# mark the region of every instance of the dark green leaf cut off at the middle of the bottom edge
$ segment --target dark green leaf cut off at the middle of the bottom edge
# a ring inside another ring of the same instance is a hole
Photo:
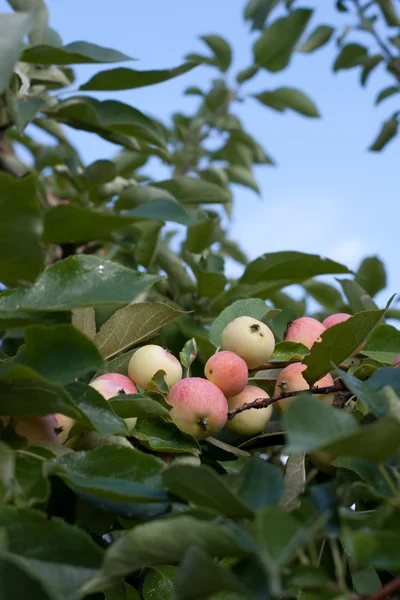
[[[245,586],[230,569],[217,565],[208,554],[196,546],[191,546],[183,557],[175,575],[175,583],[181,600],[211,598],[209,594],[222,590],[242,591],[246,597],[248,596]],[[171,600],[176,597],[171,597]],[[212,598],[215,596],[213,595]]]

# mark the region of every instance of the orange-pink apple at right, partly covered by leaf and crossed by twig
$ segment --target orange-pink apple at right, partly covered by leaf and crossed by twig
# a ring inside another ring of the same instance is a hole
[[[303,363],[293,363],[288,365],[279,373],[279,377],[276,380],[274,395],[277,396],[284,392],[297,392],[301,390],[309,390],[310,386],[307,381],[304,379],[302,372],[305,371],[307,365],[303,365]],[[319,381],[317,381],[312,387],[328,387],[333,385],[333,379],[331,375],[328,373],[324,377],[322,377]],[[335,394],[313,394],[314,398],[320,399],[325,404],[332,405],[333,400],[335,398]],[[282,400],[278,400],[278,405],[281,410],[284,410],[296,396],[291,396],[290,398],[283,398]]]

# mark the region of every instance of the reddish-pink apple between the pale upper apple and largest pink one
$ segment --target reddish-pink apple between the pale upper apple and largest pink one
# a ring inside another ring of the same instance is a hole
[[[204,374],[226,397],[240,394],[249,379],[246,362],[229,350],[213,354],[206,362]]]

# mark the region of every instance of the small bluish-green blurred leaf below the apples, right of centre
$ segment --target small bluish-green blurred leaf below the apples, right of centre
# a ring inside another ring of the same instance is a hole
[[[277,505],[283,495],[282,471],[255,456],[240,472],[242,483],[238,497],[253,510],[267,505]]]

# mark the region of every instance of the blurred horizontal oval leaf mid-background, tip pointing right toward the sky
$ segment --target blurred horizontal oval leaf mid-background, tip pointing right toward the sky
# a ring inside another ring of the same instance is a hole
[[[169,192],[183,204],[226,204],[231,201],[229,193],[220,186],[194,177],[175,177],[154,183],[153,187]]]

